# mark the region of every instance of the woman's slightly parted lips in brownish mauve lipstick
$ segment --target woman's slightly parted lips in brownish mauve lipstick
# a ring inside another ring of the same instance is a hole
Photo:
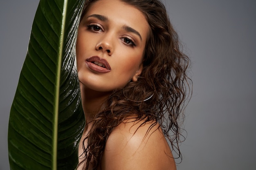
[[[111,70],[107,60],[98,56],[92,56],[85,60],[86,64],[90,69],[99,73],[108,73]]]

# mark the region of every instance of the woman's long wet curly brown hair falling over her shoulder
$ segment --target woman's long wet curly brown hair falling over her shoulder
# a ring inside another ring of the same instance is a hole
[[[81,18],[96,1],[85,0]],[[95,115],[90,133],[84,139],[84,141],[88,140],[88,145],[83,144],[85,169],[88,169],[89,163],[93,170],[100,169],[108,136],[113,128],[131,116],[136,120],[142,120],[140,121],[142,124],[153,121],[155,124],[152,126],[157,126],[159,123],[171,148],[177,152],[177,157],[181,158],[179,143],[184,119],[183,111],[187,99],[191,96],[189,87],[191,79],[187,76],[189,57],[182,52],[178,35],[162,2],[121,1],[144,13],[150,26],[143,70],[137,82],[129,82],[124,88],[113,91],[102,104],[100,112]],[[150,99],[146,100],[149,97]]]

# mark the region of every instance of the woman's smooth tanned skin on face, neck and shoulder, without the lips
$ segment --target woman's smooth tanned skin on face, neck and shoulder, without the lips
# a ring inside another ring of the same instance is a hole
[[[110,93],[141,74],[149,25],[137,8],[120,0],[99,0],[79,24],[76,44],[77,69],[86,126],[81,141],[90,132],[90,122]],[[85,62],[92,56],[106,60],[111,70],[99,73]],[[171,150],[157,124],[139,127],[143,120],[128,119],[114,128],[106,141],[102,170],[175,170]],[[86,141],[85,141],[86,145]],[[83,154],[82,142],[79,156]],[[80,157],[79,161],[82,161]],[[83,165],[77,170],[82,170]],[[90,167],[89,167],[90,168]]]

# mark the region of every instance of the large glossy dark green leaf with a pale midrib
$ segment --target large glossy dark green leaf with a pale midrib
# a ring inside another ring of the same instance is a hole
[[[84,127],[75,43],[84,0],[40,0],[8,129],[11,170],[74,170]]]

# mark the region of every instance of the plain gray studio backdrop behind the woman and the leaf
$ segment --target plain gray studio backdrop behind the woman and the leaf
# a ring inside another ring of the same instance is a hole
[[[39,0],[0,1],[0,170],[9,110]],[[193,67],[178,170],[256,169],[256,1],[166,0]]]

